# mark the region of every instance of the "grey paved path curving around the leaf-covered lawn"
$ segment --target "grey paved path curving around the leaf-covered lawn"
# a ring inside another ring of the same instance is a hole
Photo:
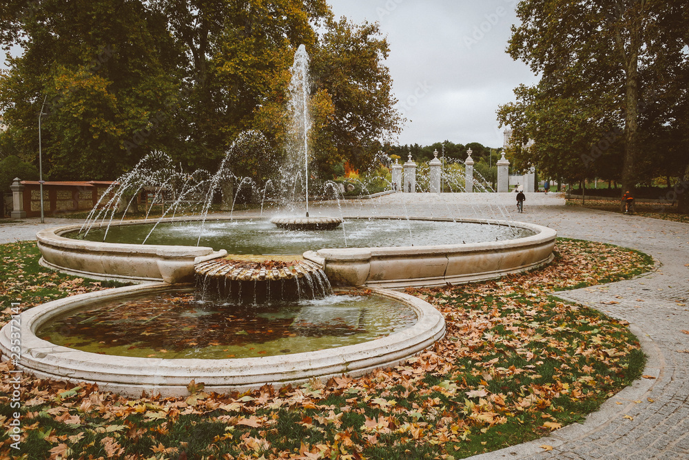
[[[560,295],[629,321],[649,357],[644,374],[656,378],[640,379],[622,390],[584,424],[472,458],[689,460],[689,334],[682,332],[689,330],[689,224],[572,208],[564,206],[559,194],[527,194],[524,214],[517,214],[513,200],[508,194],[393,194],[339,206],[313,203],[311,215],[513,219],[555,228],[561,237],[603,241],[652,255],[658,269],[651,274]],[[0,226],[0,243],[30,239],[39,228],[35,219]],[[544,451],[544,445],[553,450]]]

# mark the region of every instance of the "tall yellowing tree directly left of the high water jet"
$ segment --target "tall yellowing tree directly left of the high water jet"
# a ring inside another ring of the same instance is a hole
[[[289,66],[296,47],[313,46],[314,27],[331,14],[325,0],[156,0],[153,6],[182,50],[185,91],[174,114],[173,156],[212,169],[251,128],[266,130],[280,150]],[[256,176],[253,161],[238,159],[234,173]]]

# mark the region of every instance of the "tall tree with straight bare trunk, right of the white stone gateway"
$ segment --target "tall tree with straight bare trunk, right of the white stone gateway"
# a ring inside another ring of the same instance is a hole
[[[517,161],[572,179],[617,176],[624,190],[643,180],[639,108],[651,83],[644,78],[661,70],[654,47],[679,41],[679,25],[658,22],[673,8],[686,10],[677,0],[520,1],[522,25],[513,26],[508,53],[542,78],[517,88],[517,103],[498,111],[514,130]],[[535,145],[524,150],[527,139]],[[610,159],[619,159],[619,173]]]

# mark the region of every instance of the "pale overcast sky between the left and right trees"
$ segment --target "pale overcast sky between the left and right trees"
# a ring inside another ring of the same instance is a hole
[[[537,81],[506,54],[516,0],[329,0],[336,16],[380,23],[407,125],[400,144],[502,147],[495,110]]]

